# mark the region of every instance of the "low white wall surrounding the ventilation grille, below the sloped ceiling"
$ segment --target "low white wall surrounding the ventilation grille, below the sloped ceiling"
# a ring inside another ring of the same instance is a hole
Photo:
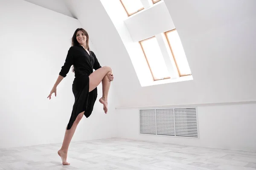
[[[118,137],[151,142],[256,151],[256,102],[199,105],[199,138],[140,134],[139,108],[116,109]]]

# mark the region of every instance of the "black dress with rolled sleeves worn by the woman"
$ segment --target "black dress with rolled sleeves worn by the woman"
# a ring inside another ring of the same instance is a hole
[[[71,65],[75,70],[75,79],[72,85],[75,103],[67,130],[72,127],[79,113],[84,111],[84,116],[87,118],[91,115],[97,98],[97,88],[89,93],[89,75],[93,73],[93,69],[101,68],[93,51],[90,51],[89,55],[81,45],[70,47],[59,75],[66,77]]]

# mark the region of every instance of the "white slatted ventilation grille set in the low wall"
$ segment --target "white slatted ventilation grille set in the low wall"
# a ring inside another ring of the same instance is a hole
[[[140,110],[140,133],[198,137],[196,108]]]

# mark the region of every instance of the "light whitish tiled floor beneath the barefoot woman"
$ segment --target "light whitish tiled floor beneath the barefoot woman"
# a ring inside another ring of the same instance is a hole
[[[0,149],[0,170],[256,170],[256,152],[125,139],[71,142],[63,166],[60,146]]]

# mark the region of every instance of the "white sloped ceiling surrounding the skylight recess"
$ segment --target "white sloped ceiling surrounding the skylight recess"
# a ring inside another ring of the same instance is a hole
[[[256,82],[251,78],[256,71],[255,0],[165,0],[195,79],[145,88],[140,86],[126,48],[100,0],[55,0],[61,4],[55,9],[52,0],[28,1],[44,1],[43,7],[58,12],[68,8],[80,21],[101,65],[113,68],[116,81],[111,88],[116,107],[256,99]]]

